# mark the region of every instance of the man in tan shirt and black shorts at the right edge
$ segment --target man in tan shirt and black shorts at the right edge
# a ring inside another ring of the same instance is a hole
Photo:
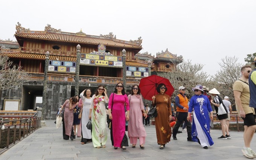
[[[244,145],[242,152],[247,158],[256,157],[256,153],[250,148],[253,134],[256,130],[255,111],[249,107],[250,90],[248,78],[251,72],[251,66],[246,65],[241,68],[242,76],[233,84],[233,93],[235,96],[236,110],[244,120]]]

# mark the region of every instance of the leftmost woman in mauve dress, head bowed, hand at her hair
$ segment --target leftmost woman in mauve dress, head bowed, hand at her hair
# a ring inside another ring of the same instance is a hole
[[[63,139],[69,140],[69,137],[71,140],[76,139],[74,135],[73,130],[73,121],[74,121],[74,114],[73,110],[78,105],[78,100],[74,96],[70,99],[67,99],[63,105],[61,105],[61,111],[64,109],[64,116],[63,116]],[[65,134],[64,134],[65,132]]]

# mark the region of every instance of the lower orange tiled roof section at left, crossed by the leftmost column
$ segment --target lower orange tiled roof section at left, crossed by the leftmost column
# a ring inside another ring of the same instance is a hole
[[[21,58],[21,59],[39,59],[44,60],[45,55],[44,54],[36,54],[36,53],[7,53],[9,58]],[[56,56],[56,55],[50,55],[50,60],[56,60],[59,59],[59,61],[72,61],[76,62],[76,57],[72,56]]]

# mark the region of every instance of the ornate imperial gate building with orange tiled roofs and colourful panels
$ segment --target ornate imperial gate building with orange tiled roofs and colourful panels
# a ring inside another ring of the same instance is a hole
[[[168,49],[156,57],[139,53],[141,37],[125,41],[113,33],[99,36],[87,35],[82,30],[69,33],[49,24],[43,31],[33,31],[18,23],[16,30],[17,42],[0,40],[0,51],[14,65],[29,72],[31,81],[20,88],[3,90],[0,110],[6,110],[6,101],[18,101],[18,110],[35,110],[41,105],[36,103],[37,97],[44,97],[46,119],[55,118],[59,106],[85,88],[91,88],[93,94],[103,84],[110,94],[122,82],[130,92],[141,78],[151,73],[171,72],[182,62],[182,56],[177,57]]]

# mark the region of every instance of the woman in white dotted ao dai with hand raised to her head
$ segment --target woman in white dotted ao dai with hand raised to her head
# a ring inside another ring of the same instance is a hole
[[[86,125],[89,122],[89,113],[91,107],[91,89],[85,89],[80,94],[80,97],[83,101],[82,107],[82,117],[81,117],[81,128],[82,128],[82,138],[81,144],[84,145],[87,142],[91,142],[91,130],[88,130]]]

